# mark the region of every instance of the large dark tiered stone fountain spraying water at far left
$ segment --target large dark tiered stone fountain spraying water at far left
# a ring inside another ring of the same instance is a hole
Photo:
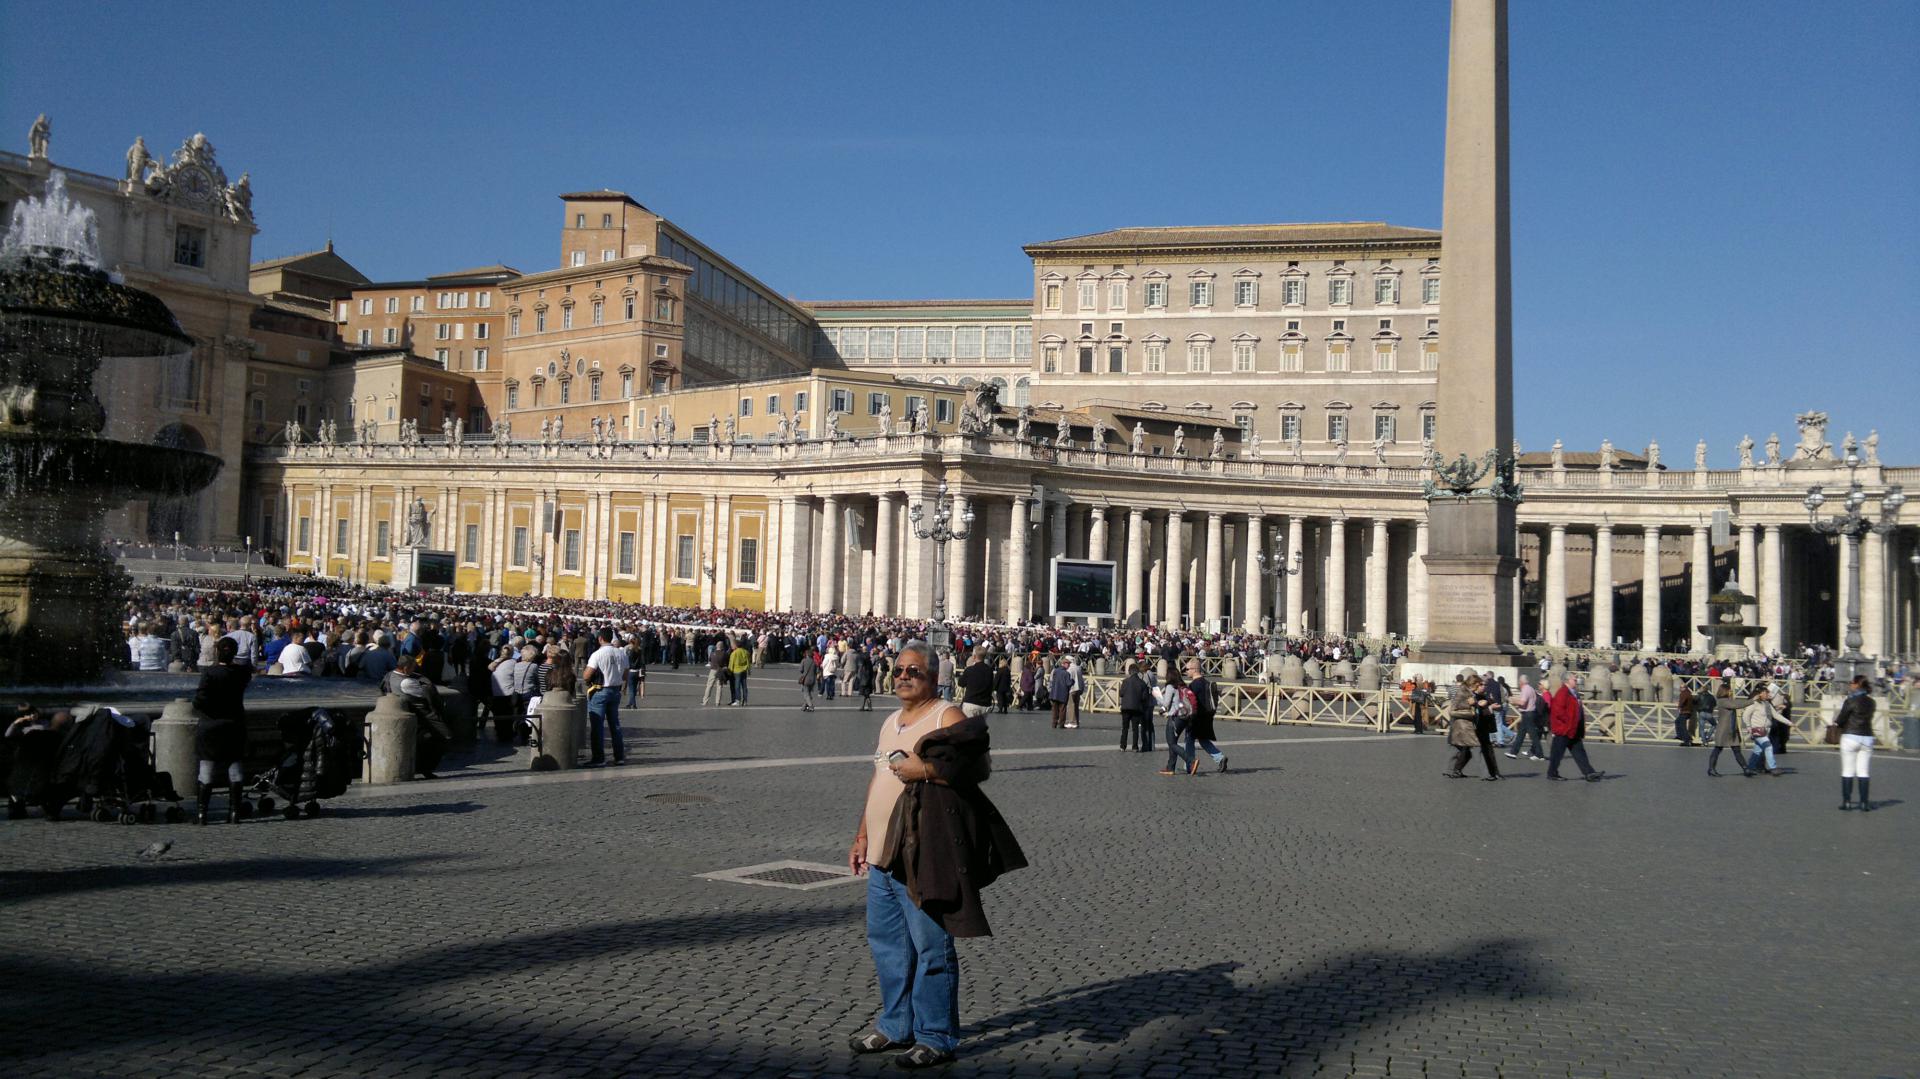
[[[106,357],[192,348],[167,305],[100,269],[94,213],[65,175],[13,207],[0,242],[0,685],[96,680],[125,649],[125,574],[100,522],[131,497],[180,497],[221,459],[100,438]]]

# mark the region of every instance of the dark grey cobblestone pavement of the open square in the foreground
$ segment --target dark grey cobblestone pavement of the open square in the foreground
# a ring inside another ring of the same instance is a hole
[[[25,1075],[868,1075],[839,862],[883,712],[789,676],[699,708],[657,672],[636,766],[476,762],[319,820],[0,826],[0,1069]],[[995,716],[1033,868],[964,941],[956,1075],[1912,1075],[1920,766],[1707,779],[1594,747],[1601,783],[1440,778],[1438,737],[1221,724],[1167,779]],[[1473,766],[1478,770],[1478,764]],[[159,858],[136,852],[157,839]]]

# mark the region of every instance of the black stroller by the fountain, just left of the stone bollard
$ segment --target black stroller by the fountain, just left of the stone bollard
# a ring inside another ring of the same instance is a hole
[[[79,705],[71,714],[33,799],[48,820],[60,820],[69,801],[102,824],[152,824],[159,816],[156,801],[173,803],[165,810],[169,824],[186,820],[173,778],[154,770],[154,735],[146,720],[106,705]]]

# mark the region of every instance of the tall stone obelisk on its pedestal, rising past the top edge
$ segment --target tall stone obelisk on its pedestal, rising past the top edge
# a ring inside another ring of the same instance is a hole
[[[1507,244],[1507,0],[1453,0],[1446,86],[1440,267],[1446,357],[1434,449],[1505,459],[1513,445],[1513,282]],[[1421,660],[1511,666],[1515,503],[1488,468],[1427,501],[1427,643]]]

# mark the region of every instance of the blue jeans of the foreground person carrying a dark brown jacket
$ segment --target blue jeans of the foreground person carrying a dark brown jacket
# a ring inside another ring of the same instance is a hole
[[[891,1041],[952,1052],[960,1037],[960,952],[885,870],[866,872],[866,945],[879,975],[879,1021]]]

